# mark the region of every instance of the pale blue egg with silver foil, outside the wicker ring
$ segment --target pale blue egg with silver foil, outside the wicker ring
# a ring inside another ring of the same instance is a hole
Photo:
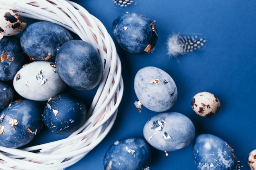
[[[175,151],[191,144],[195,137],[195,126],[181,113],[159,113],[146,122],[143,134],[154,148]]]

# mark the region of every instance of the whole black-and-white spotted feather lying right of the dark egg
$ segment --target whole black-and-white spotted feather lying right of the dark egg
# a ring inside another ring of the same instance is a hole
[[[206,39],[198,35],[180,35],[173,33],[167,39],[167,54],[170,57],[184,55],[205,46]]]

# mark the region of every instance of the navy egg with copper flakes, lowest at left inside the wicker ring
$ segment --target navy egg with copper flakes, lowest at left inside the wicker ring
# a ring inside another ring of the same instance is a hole
[[[43,108],[33,100],[12,102],[0,113],[0,145],[20,148],[40,132],[43,126]]]

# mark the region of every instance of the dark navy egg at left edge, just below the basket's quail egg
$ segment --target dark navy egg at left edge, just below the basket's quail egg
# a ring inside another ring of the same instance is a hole
[[[20,41],[13,36],[4,36],[0,41],[0,81],[10,81],[25,64]]]

